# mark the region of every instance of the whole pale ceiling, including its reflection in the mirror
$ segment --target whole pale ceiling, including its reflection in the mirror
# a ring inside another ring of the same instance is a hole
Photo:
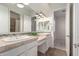
[[[24,8],[18,8],[16,3],[4,3],[2,5],[5,5],[17,12],[19,10],[20,13],[32,15],[33,13],[42,12],[45,16],[50,16],[52,11],[66,7],[65,3],[30,3],[29,5],[25,5]]]

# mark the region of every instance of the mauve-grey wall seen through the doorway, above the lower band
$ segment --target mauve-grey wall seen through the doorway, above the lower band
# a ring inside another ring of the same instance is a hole
[[[55,19],[55,39],[65,40],[65,15]]]

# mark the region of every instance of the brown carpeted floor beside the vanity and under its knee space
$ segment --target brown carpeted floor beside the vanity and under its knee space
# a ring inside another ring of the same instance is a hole
[[[66,56],[66,52],[56,48],[49,48],[45,54],[38,52],[38,56]]]

